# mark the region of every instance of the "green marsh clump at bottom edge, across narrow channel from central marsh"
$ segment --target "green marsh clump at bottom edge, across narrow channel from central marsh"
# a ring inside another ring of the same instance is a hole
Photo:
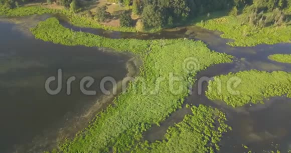
[[[166,140],[140,143],[133,152],[216,152],[222,133],[231,129],[225,114],[218,109],[199,105],[191,108],[183,121],[170,127]],[[218,123],[218,124],[217,124]]]

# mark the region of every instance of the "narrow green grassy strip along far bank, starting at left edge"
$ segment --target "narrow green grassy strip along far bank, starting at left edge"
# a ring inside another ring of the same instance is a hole
[[[65,14],[69,22],[73,25],[80,27],[92,27],[92,28],[103,28],[105,30],[124,31],[124,32],[136,32],[135,27],[117,27],[107,26],[98,23],[94,18],[84,16],[80,13],[73,13],[66,9],[53,9],[42,6],[23,6],[14,9],[1,9],[0,15],[4,16],[28,16],[33,14],[45,14],[45,13],[62,13]]]

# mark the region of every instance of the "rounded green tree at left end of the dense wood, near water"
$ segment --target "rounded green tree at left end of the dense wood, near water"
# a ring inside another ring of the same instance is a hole
[[[162,8],[156,5],[147,5],[143,8],[142,21],[146,27],[162,27],[165,23],[165,15]]]

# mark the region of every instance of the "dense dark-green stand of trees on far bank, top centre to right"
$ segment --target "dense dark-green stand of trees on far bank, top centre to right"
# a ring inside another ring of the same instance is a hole
[[[142,8],[141,18],[147,28],[172,27],[198,15],[229,9],[234,4],[246,4],[244,0],[141,0],[134,2],[133,11]]]

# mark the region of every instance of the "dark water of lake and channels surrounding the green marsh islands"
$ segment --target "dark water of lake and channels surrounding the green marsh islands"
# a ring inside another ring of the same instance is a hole
[[[226,44],[230,41],[229,39],[219,36],[220,32],[196,26],[153,34],[131,33],[76,27],[66,22],[62,16],[58,17],[62,25],[76,31],[86,31],[110,38],[186,37],[202,40],[208,44],[209,48],[236,57],[232,63],[217,64],[199,72],[196,76],[198,79],[203,76],[211,77],[249,69],[291,71],[291,64],[279,63],[267,58],[273,53],[290,53],[291,43],[232,47]],[[0,138],[0,142],[4,144],[1,146],[5,146],[0,150],[12,149],[15,146],[24,147],[24,150],[26,147],[50,148],[50,145],[55,145],[50,140],[56,140],[62,131],[60,128],[66,127],[62,122],[64,120],[69,122],[72,116],[80,116],[84,109],[94,105],[92,103],[100,95],[86,96],[77,90],[70,96],[67,96],[65,92],[50,96],[44,90],[45,79],[56,75],[58,68],[63,68],[66,76],[76,75],[77,78],[93,76],[96,80],[100,80],[102,76],[109,75],[121,80],[127,73],[125,65],[130,55],[112,53],[112,51],[104,52],[104,49],[94,47],[63,46],[43,42],[34,39],[28,34],[29,32],[18,30],[22,29],[17,27],[20,25],[22,23],[0,22],[2,33],[0,35],[0,58],[2,59],[0,60],[2,65],[0,95],[4,97],[3,102],[0,103],[1,119],[4,121],[4,126],[0,127],[1,135],[4,135]],[[206,85],[206,83],[203,84],[203,91],[207,89]],[[73,90],[74,88],[78,89],[78,84],[73,86]],[[286,152],[291,148],[291,132],[289,131],[291,99],[273,97],[265,100],[265,104],[232,108],[223,102],[209,100],[204,92],[201,95],[197,94],[197,88],[197,83],[195,83],[193,94],[185,99],[184,106],[163,121],[161,126],[153,125],[150,130],[144,132],[144,139],[149,141],[163,139],[169,126],[180,122],[185,114],[190,113],[185,107],[189,103],[210,105],[227,114],[228,124],[233,127],[233,130],[224,135],[221,152],[247,151],[242,144],[248,145],[252,151],[256,152],[262,152],[263,149],[275,150],[276,147]],[[73,124],[76,120],[80,122],[82,119],[84,120],[84,118],[73,119]],[[82,124],[84,126],[86,122],[83,121]],[[82,126],[75,128],[80,129]],[[47,133],[50,133],[49,136]],[[31,141],[31,145],[28,145],[27,143]],[[276,144],[279,145],[276,146]]]

